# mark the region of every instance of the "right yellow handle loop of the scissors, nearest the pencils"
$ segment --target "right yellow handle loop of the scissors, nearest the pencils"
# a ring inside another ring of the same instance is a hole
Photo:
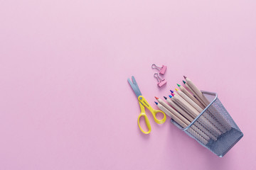
[[[138,100],[140,101],[139,103],[142,103],[143,106],[145,106],[146,108],[149,109],[149,111],[152,113],[153,115],[153,118],[155,120],[156,123],[158,124],[162,124],[166,121],[166,114],[163,112],[163,111],[159,111],[159,110],[154,110],[154,108],[152,108],[149,103],[146,101],[146,99],[143,97],[143,96],[139,96],[138,97]],[[142,106],[141,106],[141,109],[142,109]],[[144,113],[145,113],[145,110],[144,110]],[[161,120],[157,119],[156,118],[156,113],[163,113],[164,115],[164,118],[162,118]],[[141,113],[142,114],[142,113]],[[146,117],[145,117],[145,120],[146,120]]]

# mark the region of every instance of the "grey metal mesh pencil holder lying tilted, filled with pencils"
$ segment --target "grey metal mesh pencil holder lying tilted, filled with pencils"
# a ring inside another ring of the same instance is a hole
[[[223,157],[243,136],[238,125],[225,110],[218,95],[202,91],[210,104],[186,128],[171,119],[179,129],[206,147],[218,157]]]

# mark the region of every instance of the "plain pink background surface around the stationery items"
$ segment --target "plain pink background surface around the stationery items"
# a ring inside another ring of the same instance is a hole
[[[255,1],[0,1],[0,169],[255,169]],[[151,64],[166,64],[159,89]],[[218,92],[245,136],[223,158],[172,125],[181,83]]]

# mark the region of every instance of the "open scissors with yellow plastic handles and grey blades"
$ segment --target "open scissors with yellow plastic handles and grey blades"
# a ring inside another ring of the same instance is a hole
[[[154,108],[152,108],[149,103],[146,101],[146,99],[142,96],[142,92],[139,90],[139,86],[135,80],[135,78],[132,76],[132,81],[130,79],[128,79],[129,84],[132,86],[132,89],[134,91],[134,93],[136,94],[138,101],[139,101],[139,107],[141,108],[141,113],[139,114],[139,118],[138,118],[138,125],[139,125],[139,129],[144,132],[145,134],[149,134],[151,132],[151,126],[149,123],[149,118],[147,118],[146,113],[145,113],[145,107],[149,109],[149,111],[152,113],[153,117],[154,117],[154,121],[158,124],[164,123],[166,121],[166,114],[162,111],[159,110],[154,110]],[[162,120],[159,120],[156,118],[156,113],[163,113],[164,118]],[[139,124],[139,119],[141,117],[144,117],[145,122],[146,122],[146,127],[149,129],[149,131],[145,132],[144,130],[142,130],[142,127]]]

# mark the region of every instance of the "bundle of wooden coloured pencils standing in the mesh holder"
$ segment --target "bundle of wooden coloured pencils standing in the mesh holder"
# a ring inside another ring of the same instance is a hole
[[[218,137],[230,130],[230,125],[226,122],[218,111],[213,106],[208,106],[210,102],[193,84],[191,79],[185,77],[186,81],[183,81],[185,87],[178,85],[176,92],[171,91],[169,98],[164,96],[165,101],[161,98],[155,97],[158,101],[155,102],[161,111],[169,115],[178,125],[182,128],[188,127],[195,118],[198,118],[190,128],[188,132],[206,145],[210,140],[218,140]],[[207,111],[200,115],[203,110],[208,107]]]

